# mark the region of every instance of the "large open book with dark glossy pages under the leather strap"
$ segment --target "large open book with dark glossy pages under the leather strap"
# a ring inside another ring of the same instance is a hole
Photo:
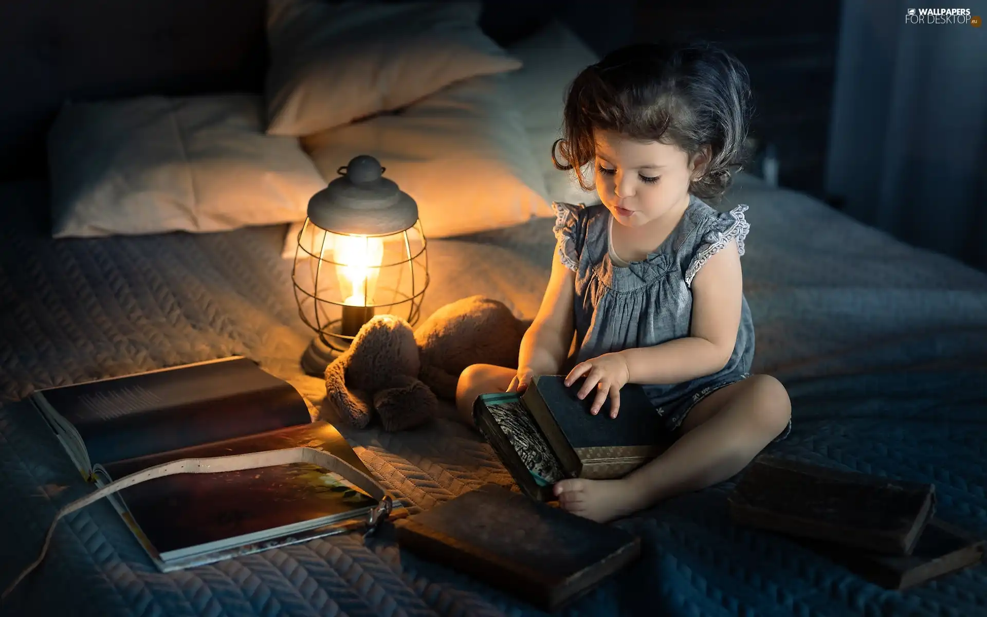
[[[31,400],[100,487],[172,461],[299,446],[372,478],[332,424],[312,422],[294,387],[243,357],[38,390]],[[169,572],[358,527],[379,501],[355,482],[289,463],[152,478],[108,499]]]

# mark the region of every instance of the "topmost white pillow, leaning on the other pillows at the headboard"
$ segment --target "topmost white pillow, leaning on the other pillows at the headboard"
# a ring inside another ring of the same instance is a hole
[[[309,135],[521,66],[479,2],[268,0],[267,133]]]

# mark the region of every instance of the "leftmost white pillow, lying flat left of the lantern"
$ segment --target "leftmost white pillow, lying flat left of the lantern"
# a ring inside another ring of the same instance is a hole
[[[48,132],[53,235],[215,232],[305,218],[322,176],[254,95],[66,105]]]

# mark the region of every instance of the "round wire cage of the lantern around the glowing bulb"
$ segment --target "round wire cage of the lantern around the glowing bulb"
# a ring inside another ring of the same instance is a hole
[[[349,347],[373,315],[403,317],[414,326],[428,287],[421,221],[397,233],[350,235],[306,219],[298,233],[291,281],[302,321],[336,351]]]

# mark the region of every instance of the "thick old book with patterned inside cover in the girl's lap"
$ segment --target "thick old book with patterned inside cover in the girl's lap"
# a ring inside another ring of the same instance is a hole
[[[609,399],[589,413],[593,396],[577,398],[580,382],[541,375],[523,394],[482,394],[473,419],[526,495],[552,499],[552,485],[566,478],[620,478],[663,452],[672,442],[643,387],[620,392],[617,418]]]

